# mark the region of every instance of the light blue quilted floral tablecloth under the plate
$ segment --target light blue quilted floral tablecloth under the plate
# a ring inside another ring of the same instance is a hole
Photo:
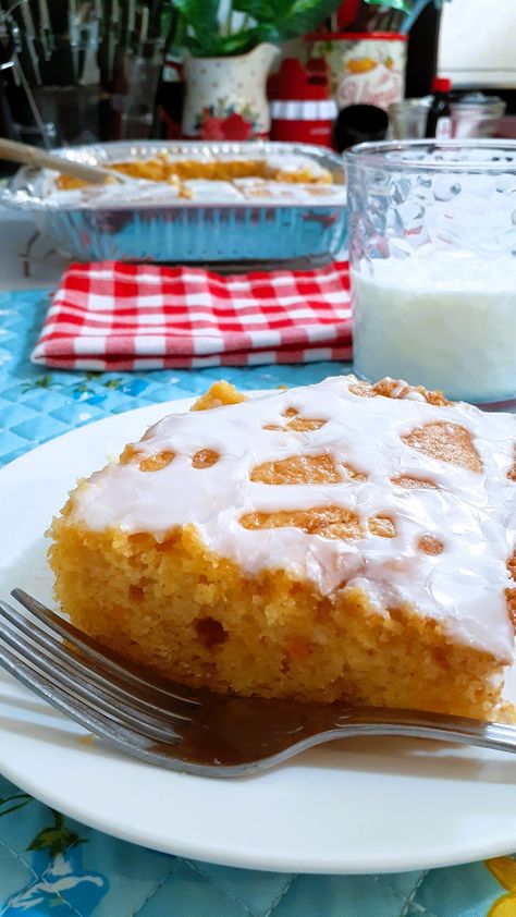
[[[48,291],[0,293],[0,464],[82,424],[205,391],[220,369],[48,372],[29,362]],[[241,388],[335,364],[224,369]],[[1,509],[1,508],[0,508]],[[516,817],[516,814],[515,814]],[[420,826],[421,833],[425,824]],[[155,853],[63,818],[0,777],[0,917],[516,917],[516,860],[391,876],[253,872]]]

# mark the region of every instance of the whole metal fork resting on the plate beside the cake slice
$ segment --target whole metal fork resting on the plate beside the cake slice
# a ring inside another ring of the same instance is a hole
[[[516,751],[516,728],[415,710],[213,694],[126,662],[22,589],[0,602],[0,665],[89,732],[152,765],[256,773],[334,738],[403,735]]]

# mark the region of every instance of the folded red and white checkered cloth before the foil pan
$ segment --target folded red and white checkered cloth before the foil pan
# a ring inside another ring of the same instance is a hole
[[[347,261],[221,277],[72,265],[33,352],[59,369],[165,369],[349,359]]]

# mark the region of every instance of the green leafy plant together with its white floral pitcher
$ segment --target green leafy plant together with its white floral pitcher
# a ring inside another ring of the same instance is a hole
[[[316,28],[339,3],[175,0],[174,44],[187,52],[184,136],[212,140],[267,136],[266,81],[278,46]]]

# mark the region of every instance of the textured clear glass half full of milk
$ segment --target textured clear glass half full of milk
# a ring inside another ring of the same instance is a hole
[[[516,399],[516,142],[347,152],[355,371]]]

